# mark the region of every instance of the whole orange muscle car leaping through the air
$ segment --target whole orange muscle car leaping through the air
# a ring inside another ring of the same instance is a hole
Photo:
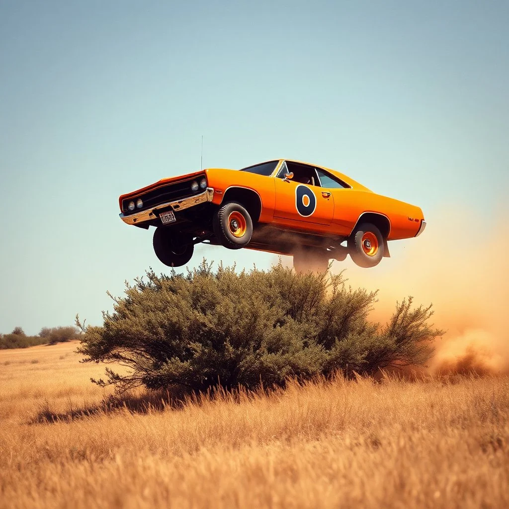
[[[127,224],[156,227],[154,251],[170,267],[189,262],[199,242],[287,254],[296,270],[325,270],[347,254],[373,267],[389,256],[387,241],[417,237],[426,227],[419,207],[288,159],[162,179],[123,194],[119,205]]]

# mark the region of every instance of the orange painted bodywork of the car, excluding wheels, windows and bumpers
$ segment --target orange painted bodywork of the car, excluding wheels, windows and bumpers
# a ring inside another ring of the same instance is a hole
[[[162,185],[181,180],[192,180],[205,173],[208,187],[214,189],[212,203],[216,205],[221,204],[225,193],[232,187],[242,187],[256,192],[262,202],[262,212],[259,218],[261,223],[271,223],[284,229],[309,232],[315,235],[348,236],[363,213],[374,212],[389,219],[390,232],[387,240],[405,239],[415,237],[417,234],[420,223],[424,219],[419,207],[376,194],[333,169],[286,159],[289,162],[306,164],[328,172],[351,186],[346,189],[333,189],[306,184],[306,187],[315,194],[317,206],[312,215],[300,216],[296,210],[295,188],[302,184],[292,180],[287,182],[275,177],[284,161],[285,159],[279,160],[271,177],[234,169],[207,168],[201,172],[161,179],[152,185],[121,195],[119,197],[120,209],[122,210],[122,201],[127,198],[135,199],[138,195]]]

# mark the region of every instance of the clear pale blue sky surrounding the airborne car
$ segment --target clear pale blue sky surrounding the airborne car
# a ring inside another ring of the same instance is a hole
[[[106,290],[165,271],[118,195],[199,169],[202,135],[205,167],[300,159],[429,228],[444,205],[490,221],[509,188],[508,20],[507,2],[0,1],[0,332],[99,324]],[[204,256],[274,261],[204,246],[189,266]]]

